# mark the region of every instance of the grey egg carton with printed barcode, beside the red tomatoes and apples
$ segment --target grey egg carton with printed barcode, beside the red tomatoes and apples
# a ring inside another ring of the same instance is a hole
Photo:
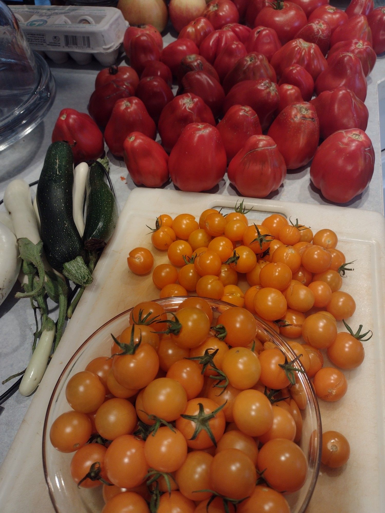
[[[11,10],[31,48],[56,64],[71,56],[86,65],[93,56],[110,66],[128,27],[122,12],[114,7],[22,5]]]

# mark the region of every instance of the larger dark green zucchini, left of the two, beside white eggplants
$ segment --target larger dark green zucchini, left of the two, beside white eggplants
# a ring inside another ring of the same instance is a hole
[[[57,271],[78,257],[83,243],[72,217],[73,154],[68,143],[52,143],[37,184],[36,200],[46,257]]]

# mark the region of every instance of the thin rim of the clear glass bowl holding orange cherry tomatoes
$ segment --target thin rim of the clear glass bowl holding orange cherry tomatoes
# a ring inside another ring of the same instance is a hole
[[[164,304],[167,305],[167,303],[169,303],[170,301],[175,301],[175,300],[180,300],[180,302],[182,303],[185,299],[188,299],[190,297],[191,296],[177,296],[177,297],[171,297],[171,298],[161,298],[161,299],[149,300],[148,302],[158,303],[158,304],[163,306]],[[231,303],[227,303],[227,302],[221,301],[221,300],[210,299],[210,298],[201,298],[201,299],[206,300],[208,303],[215,303],[216,305],[219,305],[219,306],[220,305],[226,306],[227,308],[231,308],[231,307],[235,306],[235,305],[233,305]],[[99,331],[101,331],[106,326],[108,326],[108,324],[111,324],[112,322],[114,322],[115,320],[119,319],[120,317],[123,317],[124,315],[127,315],[129,312],[132,311],[133,308],[134,307],[131,307],[131,308],[128,308],[127,310],[124,310],[121,313],[118,313],[117,315],[115,315],[109,321],[107,321],[104,324],[102,324],[102,326],[100,326],[98,329],[96,329],[93,333],[90,334],[90,336],[72,354],[71,358],[69,359],[69,361],[65,365],[64,369],[60,373],[60,376],[57,379],[57,381],[55,383],[55,386],[54,386],[54,388],[52,390],[51,397],[50,397],[48,405],[47,405],[47,411],[46,411],[46,415],[45,415],[45,418],[44,418],[44,424],[43,424],[43,437],[42,437],[42,452],[43,452],[43,454],[42,454],[42,456],[43,456],[44,478],[45,478],[45,481],[46,481],[46,484],[47,484],[47,488],[48,488],[48,492],[49,492],[49,497],[51,499],[52,506],[53,506],[53,508],[54,508],[56,513],[61,513],[61,511],[59,509],[57,509],[57,507],[56,507],[56,501],[55,501],[54,494],[53,494],[53,488],[52,488],[51,480],[50,480],[50,478],[48,476],[48,469],[47,469],[47,465],[46,465],[46,449],[45,449],[45,447],[46,447],[46,439],[47,439],[47,436],[48,436],[48,433],[47,433],[48,417],[49,417],[49,413],[51,411],[51,407],[52,407],[52,404],[53,404],[53,399],[54,399],[56,390],[60,386],[60,384],[62,382],[62,379],[64,377],[64,374],[67,372],[68,368],[72,365],[72,363],[74,362],[74,360],[76,359],[78,354],[86,346],[86,344],[88,344],[88,342],[90,342],[90,340],[97,333],[99,333]],[[284,346],[285,350],[289,354],[291,354],[293,359],[297,357],[296,353],[293,351],[293,349],[290,347],[290,345],[288,345],[288,343],[280,336],[279,333],[277,333],[276,331],[272,331],[271,326],[269,326],[263,319],[258,317],[258,315],[253,313],[253,317],[255,317],[258,320],[258,322],[260,322],[263,325],[263,328],[267,331],[267,333],[270,336],[273,337],[273,339],[274,338],[278,338],[279,339],[280,343]],[[300,366],[300,368],[302,370],[302,372],[299,373],[300,381],[301,382],[302,381],[307,382],[307,385],[308,385],[308,388],[309,388],[309,392],[310,392],[310,396],[311,396],[313,405],[315,406],[314,410],[315,410],[315,416],[316,416],[316,420],[317,420],[317,434],[318,434],[318,437],[316,439],[316,443],[318,445],[318,447],[316,448],[316,472],[314,473],[314,477],[313,477],[313,479],[312,479],[312,481],[310,483],[309,489],[307,490],[307,494],[306,494],[305,500],[303,501],[303,506],[304,507],[300,511],[300,513],[304,513],[306,508],[307,508],[307,506],[309,506],[310,500],[311,500],[313,492],[314,492],[314,488],[315,488],[316,483],[317,483],[318,475],[319,475],[319,468],[320,468],[320,464],[321,464],[321,451],[322,451],[322,444],[321,444],[322,424],[321,424],[321,414],[320,414],[320,411],[319,411],[318,400],[317,400],[317,397],[316,397],[316,393],[314,391],[313,384],[310,381],[310,378],[307,376],[307,374],[305,372],[305,369],[302,366],[301,361],[297,360],[297,363],[299,364],[299,366]],[[306,392],[306,395],[308,395],[307,392]]]

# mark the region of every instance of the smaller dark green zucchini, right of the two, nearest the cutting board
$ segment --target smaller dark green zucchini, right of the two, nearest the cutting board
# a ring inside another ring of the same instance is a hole
[[[104,181],[105,168],[95,161],[87,178],[87,214],[84,228],[84,247],[89,251],[104,248],[118,221],[114,195]]]

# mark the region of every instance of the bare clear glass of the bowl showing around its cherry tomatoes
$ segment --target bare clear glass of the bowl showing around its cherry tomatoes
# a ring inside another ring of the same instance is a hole
[[[166,311],[175,312],[185,299],[184,297],[168,298],[156,300],[156,302],[162,305]],[[224,310],[232,307],[232,305],[223,301],[207,299],[207,302],[213,310],[214,320]],[[100,513],[104,506],[101,487],[84,489],[76,486],[69,471],[73,453],[63,453],[54,449],[49,440],[49,431],[53,421],[70,409],[65,397],[65,388],[69,379],[76,372],[84,370],[93,358],[110,354],[111,333],[114,336],[119,336],[123,329],[128,326],[131,310],[126,310],[108,321],[79,347],[53,389],[44,421],[43,467],[49,495],[56,513]],[[258,317],[256,317],[256,320],[259,331],[263,332],[265,341],[276,344],[289,361],[293,360],[296,354],[291,347],[275,331],[272,331],[268,324]],[[300,363],[298,365],[302,367]],[[290,504],[292,513],[304,513],[312,497],[318,477],[322,430],[318,402],[312,384],[304,372],[298,372],[297,376],[307,398],[306,406],[301,410],[303,426],[299,445],[307,458],[309,470],[302,488],[294,494],[286,495],[286,499]]]

